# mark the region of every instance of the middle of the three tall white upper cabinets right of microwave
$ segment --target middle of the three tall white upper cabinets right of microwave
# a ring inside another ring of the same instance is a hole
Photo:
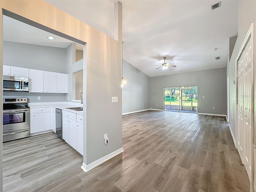
[[[44,71],[44,92],[56,93],[56,73]]]

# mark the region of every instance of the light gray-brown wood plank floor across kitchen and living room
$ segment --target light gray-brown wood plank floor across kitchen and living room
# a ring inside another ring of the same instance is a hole
[[[124,153],[87,173],[54,133],[4,143],[4,192],[250,191],[224,117],[146,111],[122,119]]]

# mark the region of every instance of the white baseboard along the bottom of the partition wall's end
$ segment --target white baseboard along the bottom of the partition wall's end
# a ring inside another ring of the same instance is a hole
[[[81,168],[82,168],[82,170],[84,170],[84,172],[88,172],[91,169],[95,168],[96,166],[106,162],[107,160],[113,158],[114,156],[116,156],[116,155],[118,155],[118,154],[120,154],[122,152],[124,152],[124,149],[120,148],[120,149],[118,149],[118,150],[116,150],[116,151],[114,151],[114,152],[112,152],[112,153],[110,153],[110,154],[108,154],[108,155],[106,155],[106,156],[104,156],[104,157],[102,157],[102,158],[100,158],[100,159],[98,159],[98,160],[88,164],[88,165],[83,163]]]

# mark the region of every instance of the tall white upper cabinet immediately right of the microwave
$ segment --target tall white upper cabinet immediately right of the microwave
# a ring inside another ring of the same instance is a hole
[[[44,92],[44,71],[29,69],[29,92]]]

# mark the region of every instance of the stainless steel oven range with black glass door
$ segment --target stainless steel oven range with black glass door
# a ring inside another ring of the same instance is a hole
[[[28,98],[3,98],[3,142],[29,137]]]

